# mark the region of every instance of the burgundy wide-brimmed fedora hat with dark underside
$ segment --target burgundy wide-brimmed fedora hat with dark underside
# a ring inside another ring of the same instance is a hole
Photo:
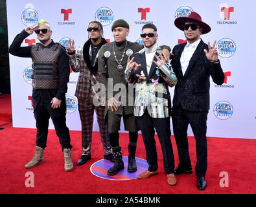
[[[189,14],[188,17],[178,17],[177,19],[175,19],[174,25],[183,31],[184,30],[183,25],[186,21],[192,21],[192,22],[198,23],[200,27],[202,27],[203,29],[202,34],[206,34],[211,31],[211,27],[207,25],[207,23],[204,23],[204,21],[202,21],[201,16],[196,12],[191,12],[191,14]]]

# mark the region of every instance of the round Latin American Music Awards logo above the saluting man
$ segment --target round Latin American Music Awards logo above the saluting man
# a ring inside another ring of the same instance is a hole
[[[38,23],[38,12],[34,10],[34,5],[27,4],[21,14],[21,21],[27,27],[32,27]]]

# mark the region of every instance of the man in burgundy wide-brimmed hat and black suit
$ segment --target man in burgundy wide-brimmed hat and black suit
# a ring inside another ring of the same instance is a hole
[[[176,45],[172,51],[172,67],[178,78],[174,91],[172,124],[178,148],[180,164],[175,175],[192,173],[187,140],[187,127],[190,124],[196,139],[197,187],[206,187],[207,169],[207,114],[209,111],[209,88],[211,76],[218,85],[224,83],[224,72],[215,49],[202,41],[201,34],[207,34],[211,27],[202,21],[196,12],[188,17],[178,17],[174,25],[184,31],[187,43]]]

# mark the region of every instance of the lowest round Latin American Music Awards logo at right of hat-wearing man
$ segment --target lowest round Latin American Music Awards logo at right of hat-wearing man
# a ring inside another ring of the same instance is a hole
[[[233,106],[231,105],[231,103],[226,101],[218,102],[215,104],[213,113],[219,119],[227,119],[233,114]]]

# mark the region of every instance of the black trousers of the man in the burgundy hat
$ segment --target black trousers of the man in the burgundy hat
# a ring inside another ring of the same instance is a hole
[[[194,112],[182,109],[181,106],[172,108],[172,125],[178,148],[180,165],[191,166],[189,157],[189,143],[187,140],[187,128],[191,125],[196,139],[196,175],[205,176],[207,169],[207,112]]]

